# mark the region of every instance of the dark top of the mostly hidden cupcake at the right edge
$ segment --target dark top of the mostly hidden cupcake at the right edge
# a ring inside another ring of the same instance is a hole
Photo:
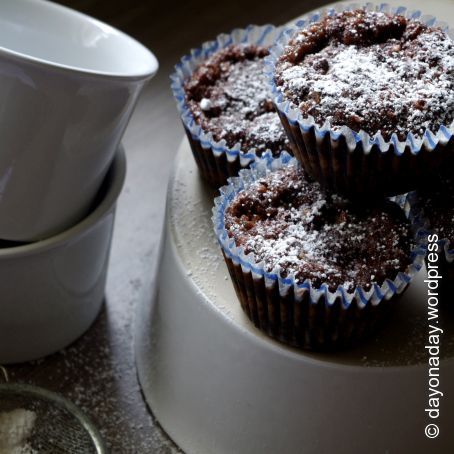
[[[454,182],[438,181],[438,187],[430,193],[418,192],[424,217],[440,240],[447,240],[448,249],[454,249]]]

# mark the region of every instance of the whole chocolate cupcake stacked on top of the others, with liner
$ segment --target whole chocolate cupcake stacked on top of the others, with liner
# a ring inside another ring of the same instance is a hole
[[[296,27],[272,48],[268,77],[314,179],[349,197],[395,195],[453,156],[447,27],[389,5],[329,9]]]

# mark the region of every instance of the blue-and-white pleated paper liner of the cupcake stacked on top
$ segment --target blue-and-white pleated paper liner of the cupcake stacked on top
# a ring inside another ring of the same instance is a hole
[[[328,121],[319,125],[313,117],[303,117],[302,112],[285,99],[274,79],[277,60],[298,30],[327,15],[361,7],[418,19],[454,36],[446,23],[437,21],[433,16],[422,15],[420,11],[388,4],[339,4],[335,8],[304,16],[284,30],[266,58],[267,74],[274,103],[295,157],[314,179],[324,187],[349,197],[391,196],[415,189],[425,175],[452,159],[454,122],[441,126],[436,132],[427,129],[421,138],[410,132],[404,141],[400,141],[396,134],[387,141],[381,133],[370,136],[365,131],[358,133],[347,126],[334,130]]]

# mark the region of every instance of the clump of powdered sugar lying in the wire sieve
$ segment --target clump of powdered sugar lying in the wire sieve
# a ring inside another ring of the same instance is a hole
[[[0,413],[0,454],[35,454],[27,442],[35,421],[36,414],[23,408]]]

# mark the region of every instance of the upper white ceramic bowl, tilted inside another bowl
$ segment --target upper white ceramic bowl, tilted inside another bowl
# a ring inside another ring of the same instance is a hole
[[[46,238],[97,193],[154,55],[40,0],[0,2],[0,238]]]

